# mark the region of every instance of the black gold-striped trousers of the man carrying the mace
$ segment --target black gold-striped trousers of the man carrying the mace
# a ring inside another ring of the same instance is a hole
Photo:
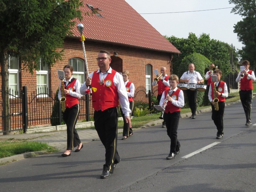
[[[103,170],[113,173],[113,165],[120,162],[117,152],[117,107],[108,108],[104,111],[94,111],[93,119],[99,139],[105,147]]]

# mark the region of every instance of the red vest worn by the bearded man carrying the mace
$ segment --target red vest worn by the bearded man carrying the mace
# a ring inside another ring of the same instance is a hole
[[[117,107],[119,105],[119,97],[117,93],[117,87],[114,85],[114,76],[117,72],[112,69],[111,73],[108,73],[104,79],[104,83],[99,80],[99,73],[93,72],[92,77],[92,103],[93,108],[96,111],[104,111],[111,107]],[[96,88],[96,89],[94,89]]]

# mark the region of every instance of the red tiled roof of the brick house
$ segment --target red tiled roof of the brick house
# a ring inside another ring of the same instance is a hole
[[[81,8],[83,20],[82,22],[75,20],[73,36],[80,37],[76,26],[82,23],[83,35],[88,40],[180,53],[124,0],[83,0],[83,4]],[[85,12],[92,12],[86,4],[102,9],[103,11],[99,13],[104,18],[96,15],[85,16]]]

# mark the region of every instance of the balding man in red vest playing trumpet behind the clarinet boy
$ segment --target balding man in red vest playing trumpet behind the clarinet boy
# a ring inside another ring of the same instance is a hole
[[[162,75],[158,75],[157,79],[158,81],[153,81],[152,82],[152,86],[156,86],[157,87],[157,101],[158,103],[160,103],[162,94],[165,90],[169,90],[169,75],[166,74],[166,67],[161,67],[161,74]],[[162,123],[162,127],[165,127],[165,122],[163,121]]]

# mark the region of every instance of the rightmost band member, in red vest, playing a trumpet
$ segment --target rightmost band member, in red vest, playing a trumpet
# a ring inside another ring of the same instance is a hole
[[[251,125],[251,102],[252,102],[252,81],[255,81],[254,71],[249,70],[250,62],[245,60],[242,62],[242,66],[245,66],[245,70],[239,72],[236,82],[241,82],[239,96],[242,103],[242,106],[245,111],[246,117],[246,126]],[[243,77],[241,77],[241,73],[243,73]]]

